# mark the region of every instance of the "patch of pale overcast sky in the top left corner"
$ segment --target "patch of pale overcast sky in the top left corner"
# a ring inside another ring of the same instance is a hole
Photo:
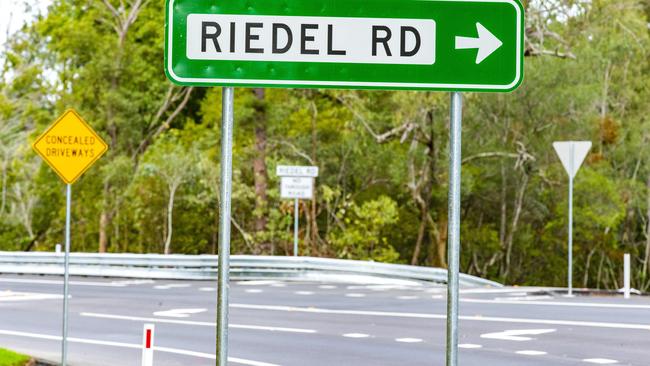
[[[16,32],[36,14],[44,13],[52,0],[0,0],[0,48],[5,44],[7,31]]]

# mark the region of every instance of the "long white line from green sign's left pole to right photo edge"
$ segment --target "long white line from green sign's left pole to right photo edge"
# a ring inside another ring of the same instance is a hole
[[[268,311],[286,311],[286,312],[303,312],[314,314],[338,314],[338,315],[365,315],[394,318],[419,318],[419,319],[447,319],[442,314],[424,314],[424,313],[400,313],[390,311],[363,311],[363,310],[334,310],[322,308],[305,308],[286,305],[253,305],[253,304],[230,304],[232,308],[249,309],[249,310],[268,310]],[[650,324],[633,324],[633,323],[605,323],[590,321],[574,320],[555,320],[555,319],[529,319],[529,318],[505,318],[490,316],[468,316],[459,317],[461,320],[495,322],[495,323],[521,323],[521,324],[545,324],[545,325],[567,325],[589,328],[615,328],[615,329],[637,329],[650,330]]]

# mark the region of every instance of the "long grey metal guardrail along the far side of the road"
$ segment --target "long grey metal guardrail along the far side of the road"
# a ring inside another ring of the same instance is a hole
[[[214,280],[216,255],[71,253],[70,274],[175,280]],[[63,274],[63,254],[0,252],[0,274]],[[233,255],[230,275],[237,279],[339,280],[364,283],[446,283],[447,270],[400,264],[315,257]],[[502,285],[461,274],[463,286]]]

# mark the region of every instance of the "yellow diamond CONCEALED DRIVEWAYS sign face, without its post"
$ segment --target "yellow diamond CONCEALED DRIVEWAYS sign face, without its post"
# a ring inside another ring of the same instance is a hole
[[[108,150],[108,145],[72,109],[36,139],[34,150],[67,184],[72,184]]]

